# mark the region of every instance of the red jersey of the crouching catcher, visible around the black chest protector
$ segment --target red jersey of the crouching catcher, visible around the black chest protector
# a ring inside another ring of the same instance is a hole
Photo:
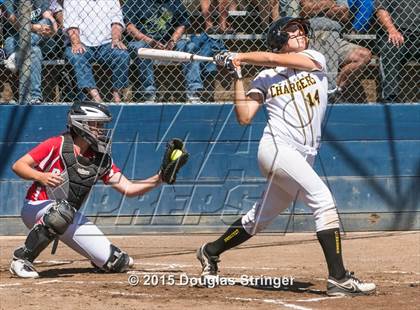
[[[56,136],[41,142],[38,146],[28,152],[28,154],[37,163],[35,169],[42,172],[54,172],[61,174],[64,170],[64,163],[60,157],[60,148],[63,141],[63,136]],[[76,150],[75,150],[76,152]],[[90,157],[93,155],[91,150],[88,150],[84,156]],[[117,172],[120,172],[117,166],[112,163],[112,168],[106,174],[102,181],[106,184],[109,179]],[[34,182],[26,194],[28,200],[47,200],[48,195],[45,186]]]

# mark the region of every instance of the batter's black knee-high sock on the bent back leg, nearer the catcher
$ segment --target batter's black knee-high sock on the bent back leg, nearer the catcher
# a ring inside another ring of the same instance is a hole
[[[241,218],[236,220],[226,232],[216,241],[210,242],[206,246],[206,252],[210,256],[218,256],[251,238],[242,225]]]

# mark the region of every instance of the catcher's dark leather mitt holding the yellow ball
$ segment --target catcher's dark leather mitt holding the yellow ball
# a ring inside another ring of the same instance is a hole
[[[182,140],[175,138],[169,141],[160,166],[159,174],[162,181],[168,184],[175,183],[179,169],[186,164],[189,156]]]

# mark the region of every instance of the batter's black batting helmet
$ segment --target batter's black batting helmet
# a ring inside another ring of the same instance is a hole
[[[289,40],[289,34],[284,30],[292,24],[300,27],[308,38],[311,37],[312,29],[307,19],[290,16],[281,17],[274,21],[268,28],[267,48],[269,50],[278,52],[283,48]]]

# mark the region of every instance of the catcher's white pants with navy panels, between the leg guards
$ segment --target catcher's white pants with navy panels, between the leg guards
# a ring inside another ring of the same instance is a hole
[[[26,227],[32,229],[53,202],[53,200],[25,201],[21,215]],[[102,267],[111,255],[111,242],[80,212],[76,212],[73,223],[59,237],[60,241],[90,259],[96,266]]]

